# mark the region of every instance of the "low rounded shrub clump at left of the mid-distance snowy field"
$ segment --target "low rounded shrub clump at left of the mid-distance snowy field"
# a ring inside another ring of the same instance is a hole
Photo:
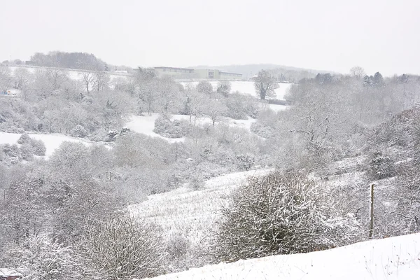
[[[171,121],[165,116],[160,116],[155,120],[155,129],[153,132],[162,137],[181,138],[189,132],[189,125],[186,120]]]

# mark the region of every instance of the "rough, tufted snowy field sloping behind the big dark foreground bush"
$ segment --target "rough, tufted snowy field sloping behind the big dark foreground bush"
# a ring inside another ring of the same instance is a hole
[[[183,186],[168,193],[149,195],[148,200],[130,206],[130,212],[160,225],[167,238],[171,234],[183,235],[196,246],[211,230],[218,210],[227,204],[232,189],[244,183],[248,176],[268,172],[269,169],[235,172],[209,179],[201,190]]]

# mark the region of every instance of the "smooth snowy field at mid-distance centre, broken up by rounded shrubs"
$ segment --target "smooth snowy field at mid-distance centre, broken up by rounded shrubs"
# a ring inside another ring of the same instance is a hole
[[[159,117],[158,113],[151,113],[151,115],[146,116],[132,116],[130,120],[125,124],[125,127],[130,128],[130,130],[148,135],[150,137],[159,137],[160,139],[165,139],[169,143],[184,141],[184,138],[167,138],[162,137],[159,134],[153,132],[155,129],[155,120]],[[194,117],[193,117],[194,119]],[[190,120],[190,116],[186,115],[172,115],[171,120]],[[194,120],[193,120],[194,121]],[[221,118],[220,121],[216,123],[225,123],[230,125],[230,127],[241,127],[247,130],[251,129],[251,124],[255,123],[255,119],[248,118],[247,120],[233,120],[231,118]],[[211,118],[209,117],[200,117],[195,120],[195,125],[204,126],[211,125]]]

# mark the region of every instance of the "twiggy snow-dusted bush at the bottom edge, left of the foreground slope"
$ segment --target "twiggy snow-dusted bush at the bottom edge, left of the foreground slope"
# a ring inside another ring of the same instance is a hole
[[[157,226],[123,216],[92,221],[86,231],[82,252],[90,279],[143,279],[163,272],[165,250]]]

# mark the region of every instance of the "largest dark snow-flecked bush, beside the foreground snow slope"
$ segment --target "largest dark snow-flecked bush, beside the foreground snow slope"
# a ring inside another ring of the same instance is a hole
[[[325,194],[324,194],[325,195]],[[337,245],[339,219],[325,216],[323,194],[296,173],[251,177],[222,210],[216,234],[219,260],[306,253]],[[338,222],[336,222],[338,221]]]

